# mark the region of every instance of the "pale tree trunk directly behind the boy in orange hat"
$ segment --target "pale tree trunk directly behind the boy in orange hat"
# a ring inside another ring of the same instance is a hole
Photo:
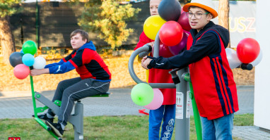
[[[218,6],[218,24],[229,30],[229,0],[219,0]],[[228,44],[230,48],[230,43]]]

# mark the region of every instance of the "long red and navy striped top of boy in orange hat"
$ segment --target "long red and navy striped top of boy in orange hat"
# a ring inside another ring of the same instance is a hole
[[[185,68],[189,65],[201,117],[213,120],[235,113],[239,110],[236,84],[225,53],[228,30],[210,22],[199,32],[190,32],[186,51],[170,58],[154,58],[148,68]]]

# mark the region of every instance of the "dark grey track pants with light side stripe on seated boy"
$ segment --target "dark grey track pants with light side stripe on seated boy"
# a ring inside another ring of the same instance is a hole
[[[54,98],[52,98],[52,101],[61,101],[58,122],[66,125],[74,107],[74,101],[105,93],[109,90],[109,87],[110,82],[99,82],[91,78],[81,79],[81,77],[76,77],[59,82]],[[49,115],[54,115],[51,109],[48,110],[48,113]]]

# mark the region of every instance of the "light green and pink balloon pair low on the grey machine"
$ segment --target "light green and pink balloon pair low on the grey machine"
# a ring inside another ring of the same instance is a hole
[[[149,110],[160,108],[163,103],[163,94],[159,89],[152,89],[149,84],[136,84],[131,90],[131,99],[136,105],[144,106]]]

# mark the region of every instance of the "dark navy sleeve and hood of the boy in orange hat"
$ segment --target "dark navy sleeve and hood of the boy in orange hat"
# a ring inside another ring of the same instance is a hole
[[[224,27],[220,25],[215,25],[212,21],[210,21],[206,26],[201,29],[199,32],[192,29],[190,30],[190,34],[194,41],[201,37],[201,34],[206,32],[207,30],[215,30],[221,36],[224,46],[228,46],[230,40],[230,33]],[[204,34],[201,39],[199,39],[196,44],[192,45],[189,50],[182,51],[176,56],[172,56],[170,58],[152,58],[153,60],[147,66],[150,68],[159,68],[159,69],[172,69],[172,68],[185,68],[189,64],[194,63],[196,61],[201,60],[202,58],[210,55],[214,55],[217,53],[221,53],[221,46],[218,44],[218,37],[216,34],[209,32]]]

